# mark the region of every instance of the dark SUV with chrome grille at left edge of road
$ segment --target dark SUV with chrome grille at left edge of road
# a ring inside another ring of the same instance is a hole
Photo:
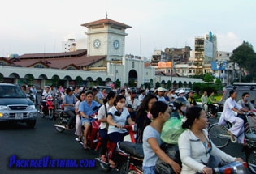
[[[0,83],[0,121],[25,122],[29,128],[36,125],[37,109],[19,86]]]

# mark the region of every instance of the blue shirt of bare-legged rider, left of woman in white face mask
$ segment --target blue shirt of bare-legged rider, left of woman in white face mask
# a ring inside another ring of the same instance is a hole
[[[99,107],[100,105],[101,105],[101,104],[98,104],[98,102],[96,102],[96,101],[93,100],[92,103],[91,103],[91,105],[89,106],[89,104],[87,103],[87,101],[84,100],[83,102],[80,103],[78,112],[81,111],[81,112],[84,112],[86,116],[91,116],[91,115],[93,115],[93,113],[98,112],[98,109],[95,110],[95,111],[93,111],[93,108],[94,108],[95,106]],[[86,122],[88,122],[88,121],[90,121],[90,122],[91,122],[91,121],[94,121],[94,118],[84,118],[84,117],[82,117],[81,121],[82,121],[82,124],[84,124],[85,121],[86,121]]]

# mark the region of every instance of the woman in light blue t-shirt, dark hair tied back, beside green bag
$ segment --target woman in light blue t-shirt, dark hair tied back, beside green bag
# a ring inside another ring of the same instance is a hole
[[[171,108],[163,102],[156,101],[152,105],[151,114],[154,121],[150,125],[146,126],[143,133],[143,173],[154,174],[155,164],[159,159],[162,159],[164,163],[167,163],[173,168],[176,174],[180,173],[180,165],[172,160],[161,148],[161,131],[163,123],[170,118]]]

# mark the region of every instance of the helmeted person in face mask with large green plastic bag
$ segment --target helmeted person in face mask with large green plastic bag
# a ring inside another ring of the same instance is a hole
[[[180,153],[178,147],[178,138],[180,134],[184,132],[184,129],[181,128],[182,119],[187,110],[187,100],[184,100],[183,97],[178,97],[173,102],[176,110],[171,112],[171,117],[164,123],[161,140],[163,144],[161,149],[181,168]],[[158,159],[155,167],[156,173],[175,173],[176,171],[167,166],[163,160]]]

